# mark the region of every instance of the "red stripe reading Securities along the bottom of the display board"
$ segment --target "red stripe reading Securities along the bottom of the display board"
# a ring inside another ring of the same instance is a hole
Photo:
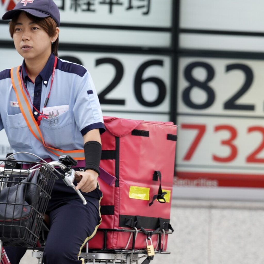
[[[264,175],[177,171],[174,184],[198,187],[264,188]]]

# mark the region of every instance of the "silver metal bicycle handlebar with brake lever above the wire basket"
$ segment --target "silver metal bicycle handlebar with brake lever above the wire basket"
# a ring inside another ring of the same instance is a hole
[[[43,166],[39,167],[39,165],[43,164]],[[85,198],[83,197],[83,195],[81,194],[80,190],[76,190],[76,186],[73,184],[74,179],[75,179],[75,171],[73,168],[70,168],[70,170],[68,172],[64,173],[64,177],[63,174],[58,172],[55,167],[59,167],[63,170],[65,170],[67,168],[67,166],[65,164],[63,164],[60,161],[51,161],[49,163],[37,163],[36,166],[38,166],[37,168],[30,168],[30,169],[6,169],[4,167],[0,167],[0,173],[4,173],[4,174],[19,174],[19,175],[28,175],[31,172],[34,172],[36,170],[39,170],[40,168],[43,168],[44,166],[49,165],[51,167],[52,171],[56,171],[61,177],[62,180],[64,181],[64,183],[69,186],[72,187],[74,189],[74,191],[77,192],[77,194],[79,195],[79,197],[82,199],[82,202],[84,205],[87,204],[87,201],[85,200]]]

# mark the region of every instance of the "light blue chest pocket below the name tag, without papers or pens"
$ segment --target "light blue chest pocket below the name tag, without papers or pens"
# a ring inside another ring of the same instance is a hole
[[[13,149],[32,148],[30,130],[23,115],[8,115],[6,117],[6,134]]]

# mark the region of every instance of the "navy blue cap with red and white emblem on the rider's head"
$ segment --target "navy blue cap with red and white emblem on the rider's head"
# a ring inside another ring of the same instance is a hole
[[[25,11],[36,17],[52,17],[60,25],[60,12],[53,0],[20,0],[13,10],[7,11],[2,19],[12,19],[19,11]]]

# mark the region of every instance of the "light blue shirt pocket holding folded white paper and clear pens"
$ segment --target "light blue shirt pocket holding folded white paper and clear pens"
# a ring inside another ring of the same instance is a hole
[[[41,127],[45,144],[48,147],[65,147],[75,143],[74,129],[71,111],[53,117],[51,119],[43,118]]]

